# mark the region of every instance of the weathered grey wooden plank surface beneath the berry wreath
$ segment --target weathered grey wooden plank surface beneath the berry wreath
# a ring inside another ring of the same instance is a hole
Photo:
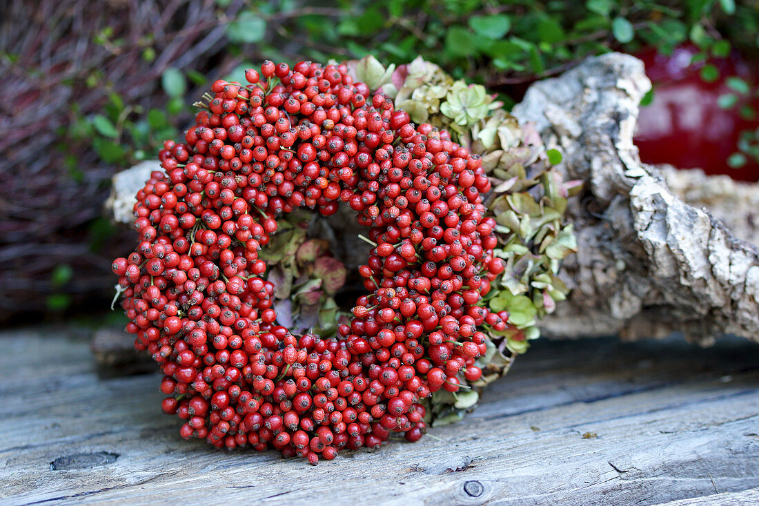
[[[86,333],[0,332],[2,504],[759,504],[759,346],[539,341],[456,424],[310,466],[178,435]]]

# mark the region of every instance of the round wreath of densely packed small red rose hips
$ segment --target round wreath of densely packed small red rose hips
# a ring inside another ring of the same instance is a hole
[[[127,330],[165,375],[163,410],[184,438],[310,463],[391,432],[417,441],[422,400],[480,378],[478,327],[505,327],[477,305],[504,268],[480,160],[344,65],[267,61],[246,78],[216,81],[184,144],[165,142],[134,206],[141,242],[113,262]],[[369,294],[337,339],[296,336],[258,251],[279,214],[339,201],[376,245]]]

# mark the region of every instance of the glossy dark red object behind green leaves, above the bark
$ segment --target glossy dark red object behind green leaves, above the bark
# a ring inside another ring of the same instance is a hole
[[[727,159],[738,151],[741,131],[757,128],[759,120],[743,119],[739,114],[741,102],[730,109],[717,103],[723,94],[735,94],[726,77],[738,76],[751,83],[756,68],[738,55],[713,59],[708,63],[720,71],[720,77],[709,83],[700,75],[706,64],[691,63],[697,52],[698,48],[686,45],[676,48],[672,55],[662,55],[653,48],[636,55],[643,60],[653,83],[653,101],[641,107],[635,135],[641,160],[671,163],[682,169],[700,167],[707,174],[757,181],[759,164],[755,160],[747,157],[744,166],[732,168]],[[759,104],[753,106],[756,109]]]

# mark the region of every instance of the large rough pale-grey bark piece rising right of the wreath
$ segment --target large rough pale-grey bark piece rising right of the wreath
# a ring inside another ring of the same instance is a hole
[[[543,333],[634,340],[678,330],[702,344],[722,334],[759,340],[759,250],[638,158],[632,138],[649,89],[642,62],[608,54],[537,82],[515,106],[520,122],[534,122],[562,151],[565,176],[585,182],[569,210],[579,250],[565,262],[572,293]]]

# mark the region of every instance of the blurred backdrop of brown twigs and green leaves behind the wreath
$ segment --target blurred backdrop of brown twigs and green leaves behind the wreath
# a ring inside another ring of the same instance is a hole
[[[666,66],[689,44],[698,78],[729,86],[718,106],[754,125],[757,13],[759,0],[2,2],[0,321],[107,307],[109,259],[131,240],[102,218],[109,178],[177,137],[216,77],[266,58],[421,55],[508,108],[587,55],[653,51]],[[759,155],[757,135],[742,130],[731,165]]]

